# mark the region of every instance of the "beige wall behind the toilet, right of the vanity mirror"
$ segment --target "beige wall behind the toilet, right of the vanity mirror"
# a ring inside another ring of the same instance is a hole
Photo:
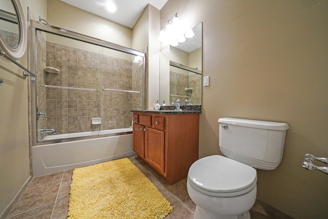
[[[280,166],[257,170],[257,198],[295,218],[328,214],[327,175],[301,166],[305,153],[328,157],[328,2],[315,2],[169,0],[160,14],[203,22],[200,157],[220,153],[220,117],[289,124]]]

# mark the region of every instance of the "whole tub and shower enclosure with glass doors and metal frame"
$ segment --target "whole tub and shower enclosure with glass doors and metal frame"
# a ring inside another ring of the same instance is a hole
[[[146,53],[39,21],[31,21],[34,176],[134,154],[131,110],[145,107]]]

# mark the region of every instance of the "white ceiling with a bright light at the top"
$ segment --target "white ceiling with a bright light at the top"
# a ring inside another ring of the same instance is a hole
[[[133,28],[148,4],[160,10],[168,0],[60,0],[110,21]],[[116,11],[111,12],[106,4],[112,3]]]

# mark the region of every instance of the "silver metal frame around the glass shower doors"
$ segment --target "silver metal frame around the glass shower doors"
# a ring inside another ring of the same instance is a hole
[[[43,31],[46,33],[52,33],[59,36],[75,39],[77,41],[93,44],[96,46],[105,47],[108,49],[113,49],[119,52],[125,52],[131,55],[138,55],[143,57],[142,63],[142,110],[146,109],[146,52],[142,52],[139,50],[131,49],[125,46],[121,46],[118,44],[114,44],[111,42],[104,41],[102,39],[94,38],[91,36],[87,36],[84,34],[76,33],[70,30],[66,30],[63,28],[55,27],[52,25],[44,24],[42,22],[37,22],[31,19],[31,71],[36,72],[36,57],[37,57],[37,49],[36,49],[36,32]],[[34,107],[33,107],[34,106]],[[32,145],[40,145],[40,144],[49,144],[49,142],[37,142],[37,125],[36,125],[36,77],[31,77],[31,122],[32,122]],[[88,137],[88,136],[86,136]],[[56,140],[55,143],[66,142],[67,140]],[[54,142],[51,142],[54,143]]]

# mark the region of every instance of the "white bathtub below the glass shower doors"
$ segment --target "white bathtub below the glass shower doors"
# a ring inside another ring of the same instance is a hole
[[[33,175],[43,176],[135,155],[132,128],[90,132],[88,136],[94,137],[80,140],[78,137],[86,136],[83,134],[86,133],[48,135],[44,140],[74,141],[33,146]]]

